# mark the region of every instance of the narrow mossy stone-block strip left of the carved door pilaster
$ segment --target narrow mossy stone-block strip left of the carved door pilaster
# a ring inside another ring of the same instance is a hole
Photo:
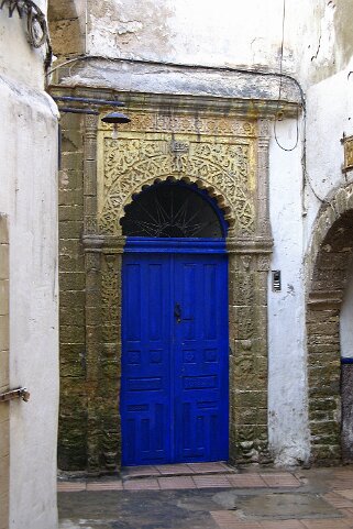
[[[84,118],[64,113],[59,170],[60,411],[58,465],[78,470],[87,462],[85,330]]]

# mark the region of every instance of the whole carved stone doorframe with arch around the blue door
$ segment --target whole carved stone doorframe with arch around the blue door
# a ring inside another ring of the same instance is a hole
[[[92,90],[92,89],[90,89]],[[124,206],[145,186],[183,179],[206,189],[229,222],[230,461],[267,462],[269,125],[277,103],[124,95],[120,139],[85,118],[84,247],[88,472],[121,464],[121,268]],[[75,96],[92,96],[87,89]],[[294,117],[297,104],[279,106]],[[107,109],[104,109],[107,113]]]

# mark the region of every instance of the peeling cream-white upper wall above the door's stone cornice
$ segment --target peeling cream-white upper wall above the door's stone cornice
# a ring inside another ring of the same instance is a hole
[[[284,73],[307,87],[343,69],[352,9],[352,0],[286,0]],[[283,15],[284,0],[87,0],[87,53],[279,71]]]

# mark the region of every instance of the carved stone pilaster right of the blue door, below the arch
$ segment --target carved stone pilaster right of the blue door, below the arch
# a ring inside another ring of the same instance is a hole
[[[229,241],[230,460],[268,462],[267,273],[271,242]]]

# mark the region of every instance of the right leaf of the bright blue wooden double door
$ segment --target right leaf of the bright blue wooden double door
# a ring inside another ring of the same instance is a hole
[[[228,459],[225,255],[175,258],[175,461]]]

